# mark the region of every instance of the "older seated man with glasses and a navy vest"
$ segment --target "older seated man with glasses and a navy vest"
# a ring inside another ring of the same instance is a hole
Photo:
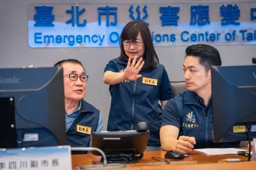
[[[102,114],[83,98],[88,75],[78,60],[61,60],[54,67],[63,67],[67,144],[89,147],[91,132],[103,129]],[[72,154],[84,152],[72,152]]]

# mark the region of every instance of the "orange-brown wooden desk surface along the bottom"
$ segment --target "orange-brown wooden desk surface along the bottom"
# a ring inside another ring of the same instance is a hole
[[[152,160],[151,157],[161,157],[164,158],[166,151],[145,151],[144,157],[139,160],[138,163],[129,164],[128,168],[115,168],[115,169],[136,169],[136,170],[144,170],[144,169],[175,169],[175,170],[221,170],[221,169],[255,169],[256,162],[217,162],[219,160],[225,158],[240,158],[241,160],[247,160],[246,157],[241,155],[218,155],[218,156],[207,156],[196,151],[193,151],[188,158],[184,158],[183,161],[197,161],[197,163],[188,163],[188,164],[161,164],[161,165],[149,165],[150,162],[158,162]],[[97,164],[97,161],[100,160],[101,157],[95,156],[93,154],[84,154],[84,155],[72,155],[72,168],[83,166],[83,165],[93,165]]]

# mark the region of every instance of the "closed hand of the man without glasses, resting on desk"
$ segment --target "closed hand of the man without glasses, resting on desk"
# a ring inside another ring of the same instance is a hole
[[[177,141],[177,151],[182,154],[187,154],[194,148],[195,138],[189,136],[180,136]]]

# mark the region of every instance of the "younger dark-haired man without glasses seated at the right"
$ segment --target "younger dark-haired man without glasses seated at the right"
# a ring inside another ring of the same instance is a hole
[[[186,154],[198,148],[239,147],[239,142],[212,140],[211,67],[221,64],[218,50],[210,45],[186,49],[183,70],[187,91],[165,104],[160,129],[163,150]]]

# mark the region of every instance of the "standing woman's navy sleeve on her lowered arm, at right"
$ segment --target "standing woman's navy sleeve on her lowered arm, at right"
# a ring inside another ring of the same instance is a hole
[[[170,85],[168,74],[165,68],[163,68],[163,75],[162,75],[162,80],[159,88],[159,99],[162,101],[162,100],[170,100],[171,98],[172,98],[172,86]]]

